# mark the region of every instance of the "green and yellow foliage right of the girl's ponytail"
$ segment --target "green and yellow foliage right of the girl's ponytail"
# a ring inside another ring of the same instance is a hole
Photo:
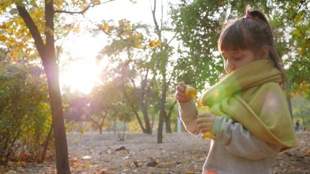
[[[309,98],[310,89],[310,11],[309,1],[272,1],[270,21],[276,46],[284,57],[289,81],[288,92]],[[280,7],[280,9],[279,9]]]

